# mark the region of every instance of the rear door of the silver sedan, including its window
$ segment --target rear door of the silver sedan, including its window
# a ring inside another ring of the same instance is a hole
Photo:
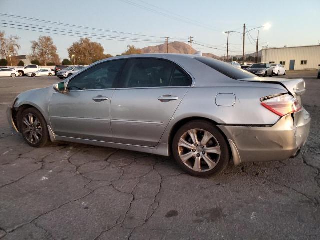
[[[173,62],[128,59],[111,100],[113,140],[157,145],[191,84],[191,77]]]

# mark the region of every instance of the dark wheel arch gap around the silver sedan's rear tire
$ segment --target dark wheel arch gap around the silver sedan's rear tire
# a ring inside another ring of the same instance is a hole
[[[186,124],[189,121],[194,121],[194,120],[207,121],[210,124],[213,124],[215,126],[218,125],[218,123],[216,121],[214,121],[212,119],[209,119],[209,118],[206,118],[206,117],[192,116],[192,117],[186,117],[186,118],[180,119],[179,121],[177,121],[173,125],[173,127],[170,130],[170,134],[169,134],[169,138],[168,138],[169,154],[172,153],[172,142],[173,142],[173,137],[174,137],[175,133],[180,129],[181,126],[183,126],[184,124]],[[225,141],[227,143],[228,150],[229,150],[229,153],[230,153],[230,159],[231,159],[232,158],[232,151],[231,151],[231,147],[230,147],[230,143],[228,141],[228,138],[226,137],[224,132],[219,127],[216,127],[216,128],[220,131],[220,133],[222,134],[222,136],[224,137],[224,139],[225,139]]]

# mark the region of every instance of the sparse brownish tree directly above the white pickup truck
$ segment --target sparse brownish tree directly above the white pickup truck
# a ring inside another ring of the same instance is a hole
[[[31,44],[32,59],[40,59],[41,64],[44,66],[48,61],[60,62],[52,37],[39,36],[38,41],[31,41]]]

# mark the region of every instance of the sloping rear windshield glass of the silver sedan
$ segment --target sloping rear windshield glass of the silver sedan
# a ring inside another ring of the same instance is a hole
[[[220,60],[215,60],[205,56],[195,57],[194,59],[235,80],[255,76],[248,71],[242,70],[238,67],[234,67]]]

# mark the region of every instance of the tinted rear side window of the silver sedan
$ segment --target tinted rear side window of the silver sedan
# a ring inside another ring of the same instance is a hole
[[[124,88],[187,86],[192,83],[182,69],[161,59],[129,59],[122,75]]]

